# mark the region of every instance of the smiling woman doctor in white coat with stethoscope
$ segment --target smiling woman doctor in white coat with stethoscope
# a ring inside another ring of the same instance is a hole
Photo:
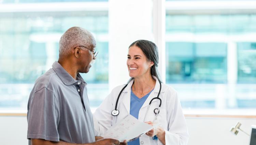
[[[127,114],[131,114],[140,121],[150,125],[154,122],[158,126],[139,139],[128,142],[128,145],[187,144],[187,125],[177,92],[161,83],[157,71],[158,60],[158,48],[151,41],[138,40],[129,46],[126,64],[131,79],[126,87],[125,85],[115,87],[95,111],[96,136],[102,135]],[[122,89],[123,91],[120,92]],[[120,97],[115,108],[119,93]],[[160,99],[153,99],[157,96]],[[155,108],[159,107],[160,100],[161,107],[157,112]]]

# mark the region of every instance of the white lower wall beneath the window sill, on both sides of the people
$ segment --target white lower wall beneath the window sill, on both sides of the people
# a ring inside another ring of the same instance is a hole
[[[249,137],[243,132],[237,136],[229,129],[238,121],[241,129],[250,133],[256,118],[194,118],[187,117],[190,139],[188,145],[249,145]],[[0,145],[27,145],[27,118],[0,116]]]

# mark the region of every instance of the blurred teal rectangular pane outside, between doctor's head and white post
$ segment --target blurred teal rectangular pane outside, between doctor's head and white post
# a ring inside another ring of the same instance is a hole
[[[166,82],[225,83],[226,55],[225,43],[168,42]]]

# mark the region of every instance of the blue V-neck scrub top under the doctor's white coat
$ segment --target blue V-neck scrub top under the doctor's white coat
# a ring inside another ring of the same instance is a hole
[[[147,97],[150,95],[151,90],[147,95],[143,96],[141,99],[138,98],[131,89],[131,104],[130,104],[130,115],[138,119],[139,111],[144,102],[147,100]],[[140,140],[136,139],[134,141],[128,142],[128,145],[140,145]]]

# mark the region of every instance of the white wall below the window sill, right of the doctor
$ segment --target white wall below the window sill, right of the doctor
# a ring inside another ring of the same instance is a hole
[[[232,126],[241,122],[241,129],[250,134],[256,118],[186,118],[189,131],[188,145],[249,145],[249,136],[243,132],[233,135]]]

